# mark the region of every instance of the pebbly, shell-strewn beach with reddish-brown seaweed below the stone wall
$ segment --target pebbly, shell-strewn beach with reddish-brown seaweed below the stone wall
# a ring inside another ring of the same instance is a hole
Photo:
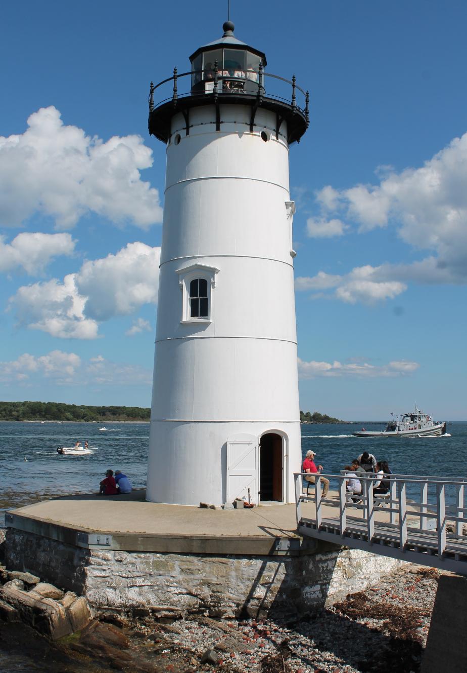
[[[196,616],[138,635],[174,673],[417,673],[438,577],[407,565],[297,623]],[[210,650],[212,662],[202,663]]]

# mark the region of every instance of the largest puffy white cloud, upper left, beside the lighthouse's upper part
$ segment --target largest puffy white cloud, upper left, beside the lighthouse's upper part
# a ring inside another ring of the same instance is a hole
[[[0,224],[40,213],[69,229],[93,212],[147,229],[162,220],[159,192],[140,177],[152,164],[140,136],[104,142],[64,125],[54,106],[41,108],[24,133],[0,136]]]

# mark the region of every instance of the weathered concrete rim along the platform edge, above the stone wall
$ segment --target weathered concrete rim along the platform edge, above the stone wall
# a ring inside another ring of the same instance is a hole
[[[317,542],[302,536],[242,536],[153,534],[94,531],[81,526],[50,522],[34,516],[5,514],[5,526],[85,549],[175,554],[300,556],[316,552]]]

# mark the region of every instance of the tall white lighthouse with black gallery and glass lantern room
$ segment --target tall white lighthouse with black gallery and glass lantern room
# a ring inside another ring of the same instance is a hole
[[[308,93],[223,28],[189,73],[151,83],[167,174],[146,499],[161,503],[290,502],[300,469],[288,155]]]

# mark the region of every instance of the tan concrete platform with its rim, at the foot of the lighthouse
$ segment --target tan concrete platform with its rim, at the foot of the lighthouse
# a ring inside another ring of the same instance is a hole
[[[160,553],[300,555],[316,542],[296,530],[295,505],[201,509],[146,502],[129,495],[73,495],[7,512],[17,530],[82,548]]]

